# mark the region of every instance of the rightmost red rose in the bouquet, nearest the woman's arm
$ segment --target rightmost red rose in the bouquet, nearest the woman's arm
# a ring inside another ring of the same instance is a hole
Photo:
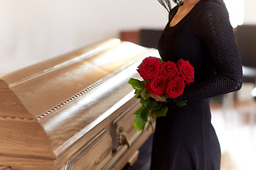
[[[177,66],[178,72],[181,74],[184,81],[186,81],[186,84],[194,81],[194,68],[188,61],[184,61],[183,59],[178,60]]]

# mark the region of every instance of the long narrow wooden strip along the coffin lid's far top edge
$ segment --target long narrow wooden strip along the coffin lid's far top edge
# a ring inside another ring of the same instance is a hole
[[[49,60],[33,64],[23,69],[19,69],[15,72],[9,74],[1,75],[1,79],[4,79],[7,84],[16,84],[19,81],[26,81],[29,78],[34,78],[39,73],[47,73],[49,71],[60,69],[63,66],[73,64],[73,61],[85,60],[88,57],[104,52],[116,45],[120,44],[118,39],[110,39],[102,42],[97,42],[93,45],[88,45],[87,47],[82,47],[81,49],[75,50],[73,52],[68,52],[66,54],[60,55],[58,57],[53,57]],[[65,63],[65,64],[64,64]]]

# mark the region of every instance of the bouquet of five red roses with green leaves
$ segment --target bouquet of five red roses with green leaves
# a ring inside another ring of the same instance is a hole
[[[137,110],[134,127],[144,130],[146,122],[154,131],[153,123],[156,118],[165,116],[168,107],[166,102],[155,101],[151,94],[161,98],[176,98],[183,94],[186,84],[194,81],[194,69],[188,61],[183,59],[174,62],[164,62],[156,57],[146,57],[137,69],[143,80],[131,78],[128,84],[135,89],[135,98],[140,98],[142,107]],[[176,103],[185,106],[186,101]],[[149,128],[148,126],[148,128]]]

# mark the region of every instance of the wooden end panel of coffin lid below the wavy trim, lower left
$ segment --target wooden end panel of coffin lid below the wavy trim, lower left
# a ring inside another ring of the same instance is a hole
[[[1,120],[0,136],[3,156],[55,159],[46,133],[36,122]]]

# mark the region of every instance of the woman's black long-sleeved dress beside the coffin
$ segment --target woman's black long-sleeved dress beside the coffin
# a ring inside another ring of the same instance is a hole
[[[169,13],[170,21],[177,10],[178,6]],[[210,97],[242,86],[228,12],[221,0],[201,0],[176,26],[169,23],[159,40],[161,58],[188,60],[195,82],[181,96],[169,98],[166,117],[157,118],[151,170],[219,170],[220,145],[210,123]],[[188,101],[186,106],[176,106],[183,100]]]

